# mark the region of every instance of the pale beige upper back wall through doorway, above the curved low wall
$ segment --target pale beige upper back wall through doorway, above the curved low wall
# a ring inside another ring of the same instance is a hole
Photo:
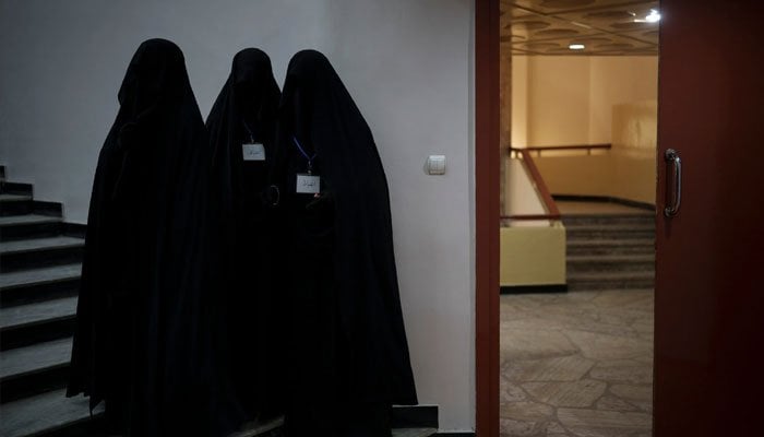
[[[611,141],[612,106],[657,98],[657,57],[512,58],[512,145]]]

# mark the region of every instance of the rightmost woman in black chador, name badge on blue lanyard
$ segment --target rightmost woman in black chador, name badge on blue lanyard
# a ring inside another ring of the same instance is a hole
[[[417,402],[401,311],[387,182],[374,140],[329,60],[289,62],[273,181],[286,215],[294,436],[389,437]]]

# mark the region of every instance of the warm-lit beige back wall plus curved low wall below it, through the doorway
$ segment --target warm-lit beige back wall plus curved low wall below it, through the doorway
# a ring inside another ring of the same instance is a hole
[[[512,146],[612,143],[536,164],[554,194],[655,203],[657,74],[657,57],[513,57]]]

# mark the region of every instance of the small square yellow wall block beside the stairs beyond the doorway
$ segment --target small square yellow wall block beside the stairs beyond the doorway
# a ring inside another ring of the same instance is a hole
[[[558,222],[544,227],[500,229],[501,286],[565,283],[565,228]]]

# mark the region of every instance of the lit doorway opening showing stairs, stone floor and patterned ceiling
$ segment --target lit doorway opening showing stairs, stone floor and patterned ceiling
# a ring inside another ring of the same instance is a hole
[[[658,3],[499,7],[499,433],[650,435]]]

